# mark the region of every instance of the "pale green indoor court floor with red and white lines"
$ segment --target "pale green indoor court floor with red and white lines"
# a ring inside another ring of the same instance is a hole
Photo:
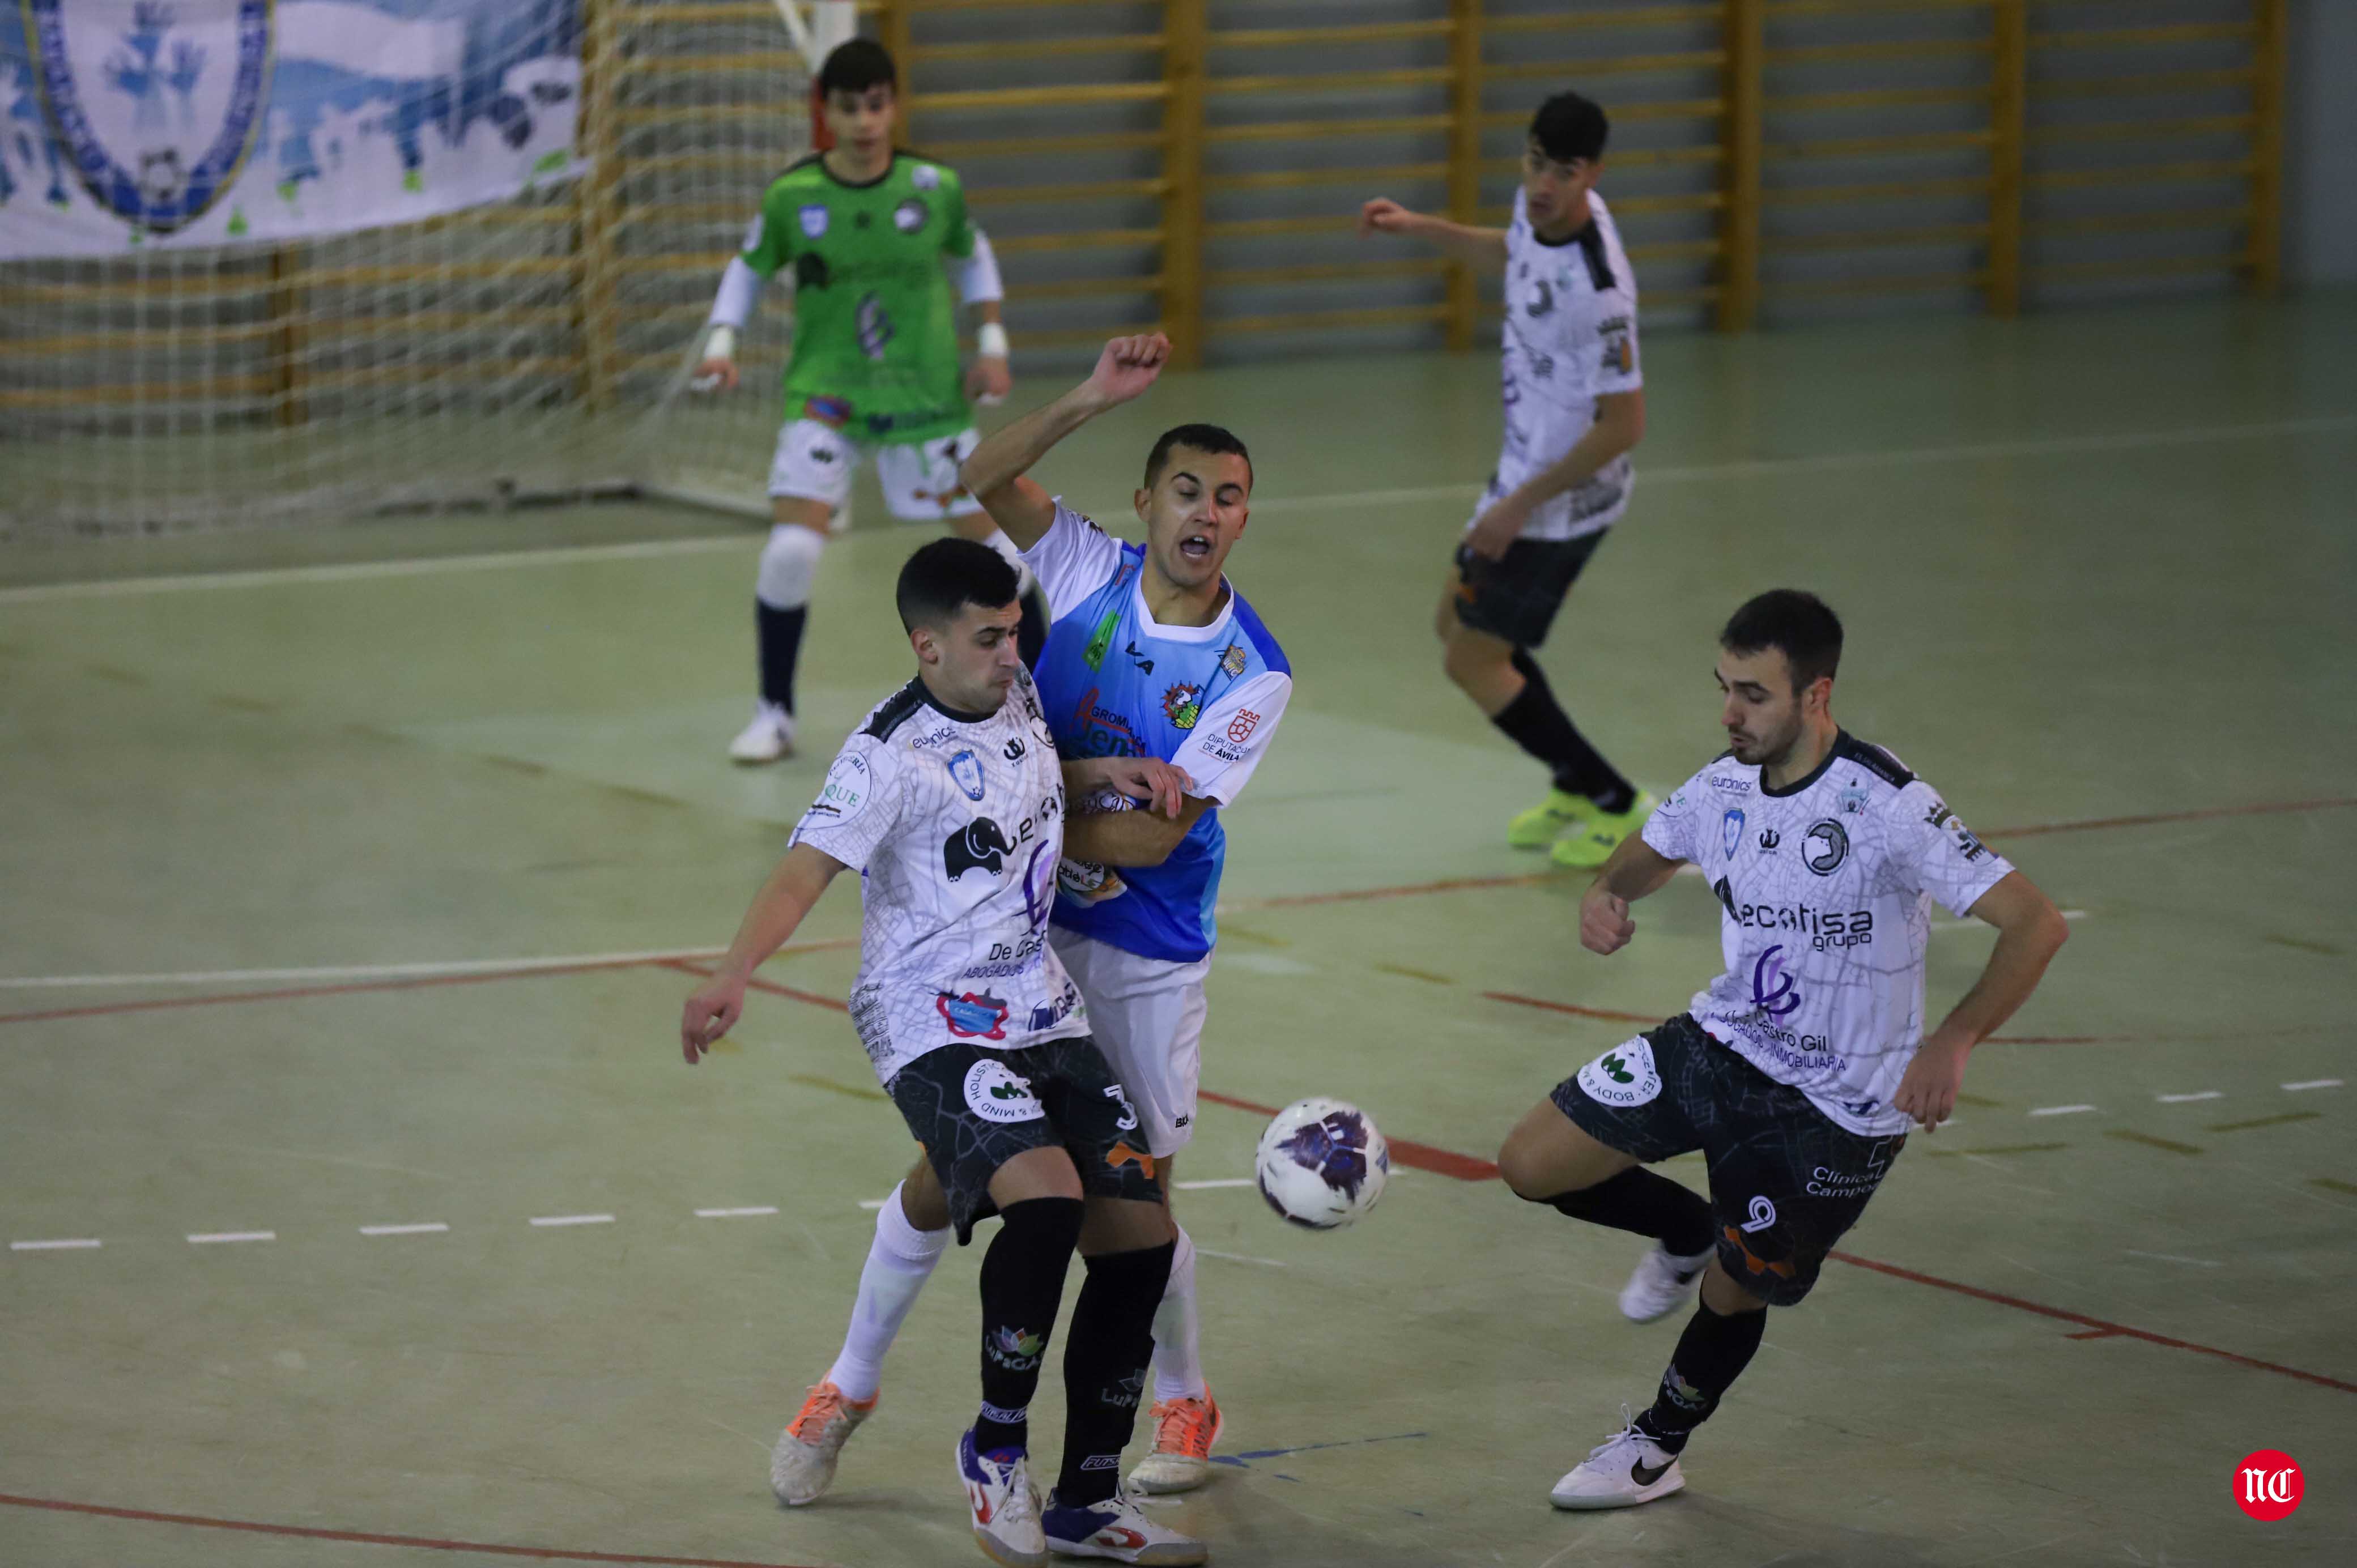
[[[1169,377],[1051,457],[1122,521],[1155,429],[1244,434],[1230,573],[1299,681],[1228,818],[1178,1170],[1228,1434],[1171,1516],[1216,1561],[2357,1561],[2350,342],[2350,297],[1648,340],[1636,509],[1546,646],[1572,712],[1681,780],[1718,750],[1718,620],[1815,587],[1836,714],[2074,941],[1770,1318],[1688,1490],[1600,1516],[1546,1488],[1678,1323],[1626,1325],[1633,1245],[1485,1160],[1683,1004],[1716,910],[1678,882],[1605,962],[1577,882],[1501,844],[1537,778],[1428,630],[1494,363]],[[981,1561],[950,1476],[976,1250],[837,1490],[766,1488],[910,1155],[839,1007],[858,901],[698,1070],[667,957],[728,938],[905,679],[919,538],[830,552],[773,771],[721,757],[759,549],[724,519],[0,552],[0,1561]],[[1935,1007],[1987,946],[1940,922]],[[1242,1181],[1261,1111],[1313,1092],[1398,1160],[1339,1236]],[[2258,1448],[2305,1467],[2284,1523],[2230,1500]]]

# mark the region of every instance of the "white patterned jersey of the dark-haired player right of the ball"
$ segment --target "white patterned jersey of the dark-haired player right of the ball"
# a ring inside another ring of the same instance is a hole
[[[1963,915],[2013,868],[1897,757],[1841,733],[1784,790],[1721,757],[1645,821],[1718,894],[1725,974],[1695,1021],[1860,1137],[1907,1132],[1890,1106],[1923,1040],[1930,905]]]

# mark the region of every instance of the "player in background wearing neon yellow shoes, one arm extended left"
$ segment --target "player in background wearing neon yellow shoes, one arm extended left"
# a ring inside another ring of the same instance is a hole
[[[1386,196],[1360,212],[1360,233],[1414,236],[1506,274],[1506,436],[1435,630],[1450,679],[1549,771],[1546,799],[1506,823],[1506,842],[1549,849],[1570,868],[1603,865],[1652,809],[1579,733],[1532,655],[1629,509],[1629,453],[1645,436],[1636,274],[1596,193],[1607,134],[1605,111],[1577,92],[1546,99],[1504,229],[1409,212]]]

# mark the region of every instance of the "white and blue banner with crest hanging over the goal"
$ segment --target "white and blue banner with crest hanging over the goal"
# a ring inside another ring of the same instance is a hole
[[[0,259],[269,243],[582,170],[577,0],[0,0]]]

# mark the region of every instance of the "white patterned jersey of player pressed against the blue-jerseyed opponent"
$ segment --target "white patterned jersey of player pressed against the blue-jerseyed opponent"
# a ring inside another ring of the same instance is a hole
[[[1063,764],[1030,672],[988,717],[924,681],[844,740],[794,842],[860,870],[851,1023],[877,1078],[955,1042],[1011,1052],[1089,1033],[1047,917],[1063,854]]]

